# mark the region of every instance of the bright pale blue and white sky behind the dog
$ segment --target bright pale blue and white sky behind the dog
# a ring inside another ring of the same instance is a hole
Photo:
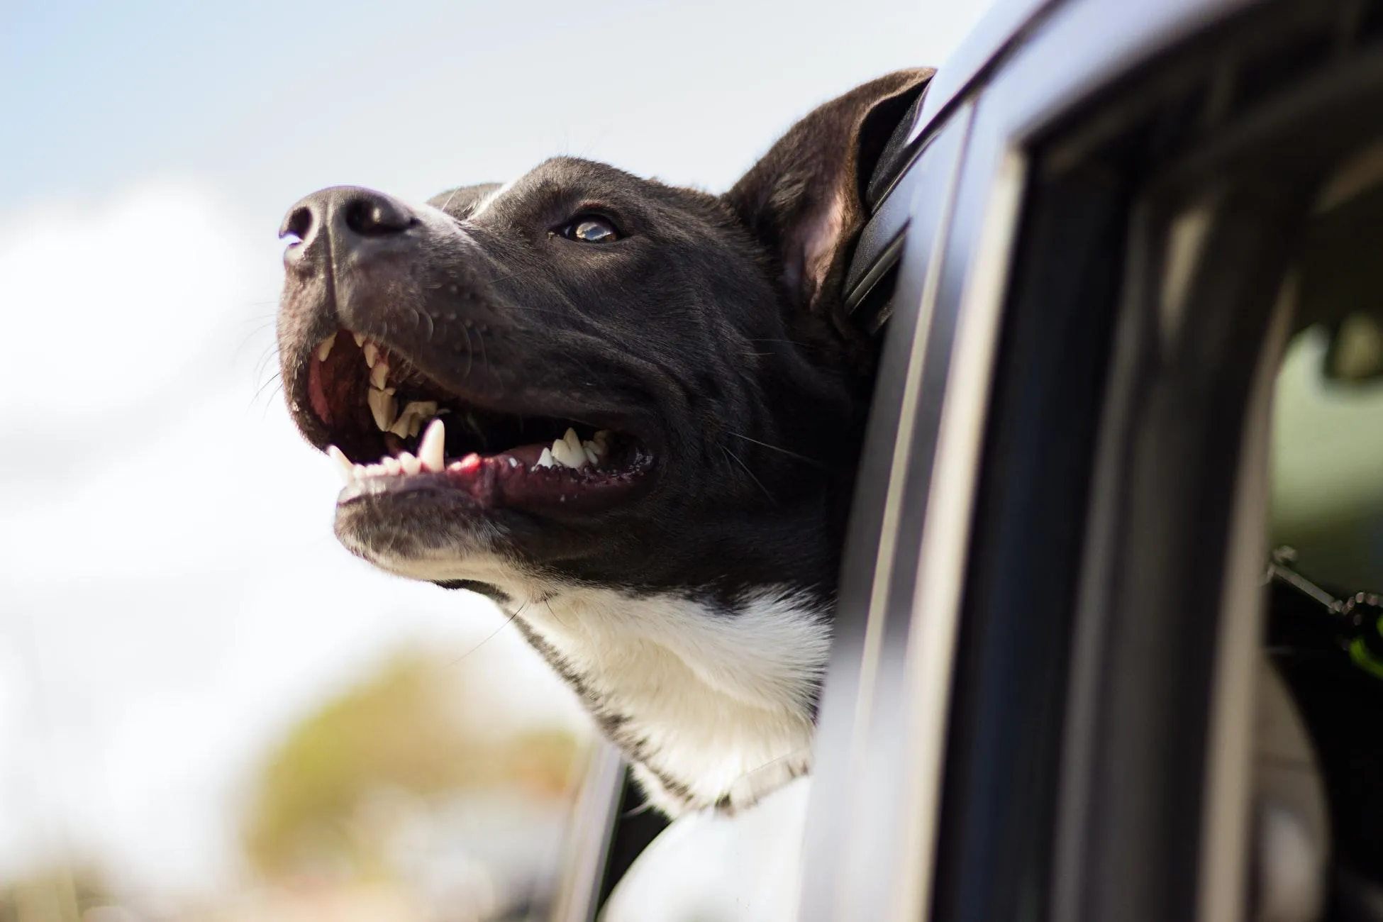
[[[505,719],[581,720],[488,603],[332,539],[274,380],[289,205],[557,153],[721,191],[986,7],[0,3],[0,878],[224,886],[254,759],[401,644],[465,651]]]

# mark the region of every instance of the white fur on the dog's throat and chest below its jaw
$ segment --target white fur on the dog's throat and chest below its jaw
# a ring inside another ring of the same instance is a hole
[[[495,554],[372,558],[402,576],[477,579],[509,596],[508,614],[549,647],[596,716],[618,722],[615,742],[669,814],[744,807],[809,769],[830,621],[808,593],[765,587],[722,610],[674,593],[555,585]]]

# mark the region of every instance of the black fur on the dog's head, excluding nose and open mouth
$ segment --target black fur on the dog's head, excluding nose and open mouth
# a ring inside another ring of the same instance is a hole
[[[339,243],[304,241],[317,252],[289,261],[279,328],[295,417],[314,444],[331,441],[306,409],[307,357],[337,326],[365,332],[479,405],[609,422],[653,448],[658,482],[629,507],[544,521],[499,510],[524,560],[631,589],[831,583],[871,370],[831,288],[859,228],[859,129],[927,76],[891,75],[822,106],[726,196],[556,158],[477,221],[494,185],[436,196],[455,234],[380,242],[350,275]],[[842,185],[851,210],[816,292],[794,235]],[[549,234],[591,210],[625,238],[596,247]],[[454,511],[416,524],[467,529],[470,510]]]

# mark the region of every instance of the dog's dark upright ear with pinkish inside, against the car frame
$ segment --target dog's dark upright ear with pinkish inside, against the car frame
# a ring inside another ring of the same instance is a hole
[[[932,73],[899,70],[822,105],[726,192],[725,200],[777,260],[797,305],[831,310],[823,294],[839,285],[864,223],[863,188]]]

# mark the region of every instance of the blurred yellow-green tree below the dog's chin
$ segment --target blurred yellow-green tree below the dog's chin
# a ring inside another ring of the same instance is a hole
[[[243,825],[252,865],[270,878],[387,876],[378,824],[361,822],[382,795],[508,787],[568,796],[577,737],[496,726],[488,711],[499,690],[480,686],[455,662],[404,652],[304,719],[254,780]]]

